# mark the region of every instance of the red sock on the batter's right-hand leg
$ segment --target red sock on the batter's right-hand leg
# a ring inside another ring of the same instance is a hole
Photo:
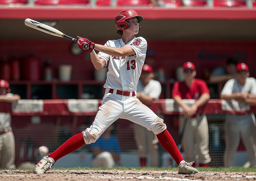
[[[156,137],[165,151],[167,151],[175,160],[177,165],[179,165],[184,159],[182,158],[182,155],[170,133],[167,130],[164,130],[162,133],[157,134]]]

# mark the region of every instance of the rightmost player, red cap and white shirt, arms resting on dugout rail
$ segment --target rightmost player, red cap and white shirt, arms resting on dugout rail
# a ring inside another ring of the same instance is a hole
[[[230,101],[234,99],[249,105],[256,105],[256,80],[249,77],[249,68],[245,63],[236,66],[236,78],[229,79],[223,87],[220,98]],[[255,145],[255,116],[247,114],[226,114],[226,150],[224,153],[224,166],[234,166],[234,156],[240,142],[245,144],[249,155],[250,166],[256,166]]]

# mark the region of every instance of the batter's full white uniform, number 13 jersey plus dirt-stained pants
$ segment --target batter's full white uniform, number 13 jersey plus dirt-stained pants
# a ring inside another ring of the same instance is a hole
[[[117,90],[136,91],[146,57],[147,41],[143,37],[134,37],[128,44],[124,44],[122,39],[118,39],[109,40],[104,46],[117,48],[129,46],[135,51],[135,54],[114,57],[102,52],[98,53],[100,58],[109,63],[109,70],[104,84],[106,90],[99,111],[92,125],[82,131],[85,143],[94,143],[109,125],[119,118],[144,126],[154,134],[163,132],[166,129],[164,120],[142,104],[136,94],[117,94]],[[112,93],[110,89],[114,89]]]

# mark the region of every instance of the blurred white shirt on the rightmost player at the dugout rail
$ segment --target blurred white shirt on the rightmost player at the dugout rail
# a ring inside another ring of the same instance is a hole
[[[249,94],[256,94],[256,79],[254,77],[247,77],[244,85],[240,85],[236,78],[228,80],[221,91],[221,95],[231,95],[232,93],[247,92]]]

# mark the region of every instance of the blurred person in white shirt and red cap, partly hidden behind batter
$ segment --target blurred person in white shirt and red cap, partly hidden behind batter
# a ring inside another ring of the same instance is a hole
[[[159,99],[162,92],[160,82],[153,80],[153,78],[153,68],[150,65],[144,64],[137,85],[137,98],[147,106],[149,106],[155,99]],[[150,156],[149,166],[159,166],[158,140],[156,135],[139,124],[134,124],[134,135],[138,147],[140,166],[147,166],[148,154]]]

